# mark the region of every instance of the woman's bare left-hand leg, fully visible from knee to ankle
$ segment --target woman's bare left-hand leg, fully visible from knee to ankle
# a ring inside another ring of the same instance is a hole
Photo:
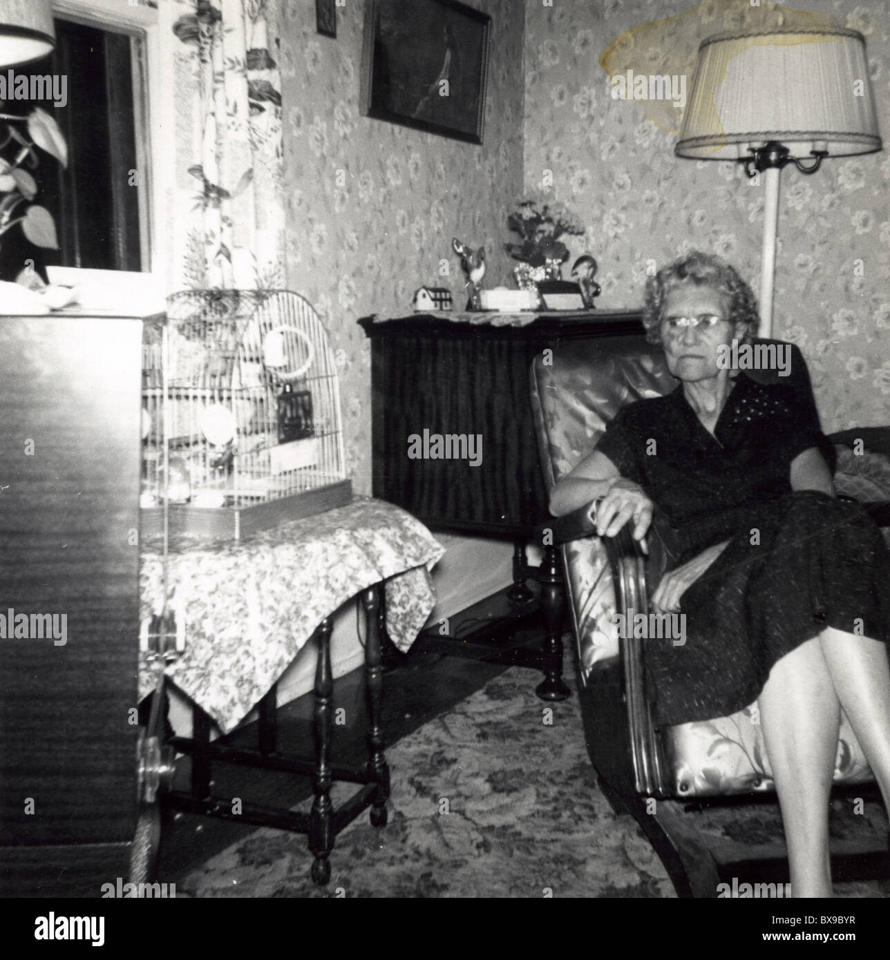
[[[819,637],[779,660],[758,698],[794,897],[830,897],[829,794],[840,702]]]

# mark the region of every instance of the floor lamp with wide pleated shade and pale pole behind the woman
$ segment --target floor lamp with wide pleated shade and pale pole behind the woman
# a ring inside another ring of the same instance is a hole
[[[826,156],[881,149],[865,39],[854,30],[718,34],[702,41],[675,153],[736,160],[766,189],[761,337],[772,334],[779,178],[813,174]]]

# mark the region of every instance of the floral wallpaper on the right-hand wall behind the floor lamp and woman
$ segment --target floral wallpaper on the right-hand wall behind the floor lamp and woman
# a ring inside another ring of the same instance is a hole
[[[682,110],[613,99],[610,74],[687,74],[700,39],[793,18],[866,37],[878,123],[890,138],[885,0],[555,0],[526,4],[524,177],[583,223],[572,255],[599,261],[602,307],[642,301],[647,265],[691,248],[730,260],[757,291],[762,188],[738,164],[674,156]],[[800,8],[804,8],[801,10]],[[653,22],[656,21],[656,22]],[[651,24],[651,26],[644,26]],[[782,171],[774,335],[799,344],[828,431],[890,421],[890,152]]]

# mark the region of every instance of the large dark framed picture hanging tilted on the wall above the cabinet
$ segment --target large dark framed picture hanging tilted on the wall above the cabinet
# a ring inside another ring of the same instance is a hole
[[[491,27],[457,0],[369,0],[362,113],[482,143]]]

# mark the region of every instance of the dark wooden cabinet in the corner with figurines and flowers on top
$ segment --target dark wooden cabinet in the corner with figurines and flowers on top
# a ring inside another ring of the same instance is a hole
[[[443,643],[438,631],[428,631],[423,643],[474,659],[496,653],[499,660],[541,669],[544,680],[537,692],[544,700],[562,700],[569,691],[562,679],[558,554],[544,545],[535,570],[525,557],[526,542],[549,517],[529,371],[541,351],[568,340],[638,335],[640,318],[638,310],[589,310],[359,321],[372,342],[374,496],[404,507],[432,530],[504,538],[515,546],[514,583],[507,591],[512,613],[501,629],[487,626],[486,636],[462,636],[460,645]],[[473,466],[467,456],[430,455],[436,436],[476,438],[479,463]],[[410,438],[420,439],[420,458],[409,456]],[[526,586],[532,573],[541,583],[538,600]],[[504,638],[520,621],[539,615],[545,636],[541,654],[517,650],[505,656]]]

